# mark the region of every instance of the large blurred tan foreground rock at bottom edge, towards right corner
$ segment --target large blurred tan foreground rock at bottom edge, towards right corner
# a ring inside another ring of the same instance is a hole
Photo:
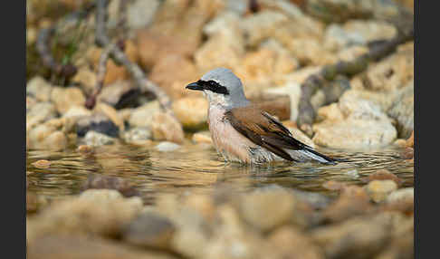
[[[339,224],[311,230],[311,238],[326,258],[371,258],[387,245],[391,223],[376,216],[354,217]]]

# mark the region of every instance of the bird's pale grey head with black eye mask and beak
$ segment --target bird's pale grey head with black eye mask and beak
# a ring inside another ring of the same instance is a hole
[[[199,81],[188,84],[186,88],[203,91],[209,105],[234,108],[245,106],[249,102],[244,95],[240,79],[226,68],[206,72]]]

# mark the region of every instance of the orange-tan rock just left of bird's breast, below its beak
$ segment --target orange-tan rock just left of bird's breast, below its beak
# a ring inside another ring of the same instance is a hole
[[[172,109],[184,129],[195,130],[206,128],[208,107],[206,98],[187,97],[174,101]]]

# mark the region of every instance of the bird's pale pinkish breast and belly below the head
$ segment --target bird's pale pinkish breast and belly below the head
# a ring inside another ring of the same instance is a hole
[[[224,114],[225,109],[221,106],[211,106],[208,110],[209,130],[215,149],[227,160],[250,162],[249,148],[256,147],[255,144],[223,120]]]

